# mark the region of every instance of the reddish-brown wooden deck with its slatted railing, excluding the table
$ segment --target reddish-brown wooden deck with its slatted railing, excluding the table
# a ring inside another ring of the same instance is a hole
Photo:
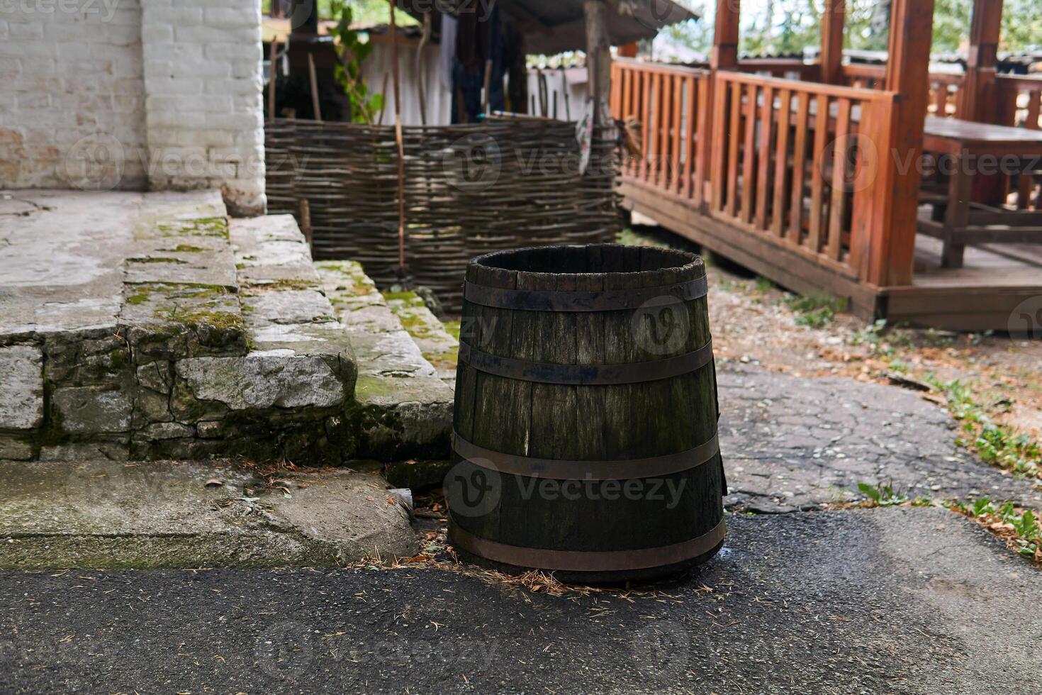
[[[1042,296],[1040,246],[971,245],[964,267],[942,268],[942,243],[915,233],[919,177],[889,153],[918,152],[923,136],[898,144],[898,93],[746,67],[615,64],[613,113],[637,126],[641,151],[622,169],[627,207],[785,288],[848,298],[866,319],[1006,330],[1018,304]],[[951,115],[957,83],[932,88],[929,113]],[[1038,122],[1038,99],[1021,100],[1018,125]]]

